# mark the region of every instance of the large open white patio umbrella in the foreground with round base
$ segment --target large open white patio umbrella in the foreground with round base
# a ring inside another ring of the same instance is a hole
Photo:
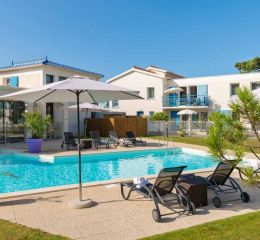
[[[78,123],[78,171],[79,199],[71,203],[71,207],[83,208],[92,205],[92,201],[82,200],[81,149],[80,149],[80,102],[104,102],[108,100],[142,99],[137,91],[117,87],[112,84],[90,80],[85,77],[72,76],[64,81],[46,84],[37,88],[22,90],[0,97],[1,100],[23,102],[76,102]]]

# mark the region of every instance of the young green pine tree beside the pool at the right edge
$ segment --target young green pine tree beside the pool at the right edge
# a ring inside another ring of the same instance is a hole
[[[209,120],[213,122],[213,125],[209,129],[207,139],[211,154],[223,162],[232,160],[235,167],[242,161],[248,148],[260,160],[254,151],[255,147],[260,146],[257,132],[257,125],[260,123],[260,101],[247,88],[238,89],[237,95],[237,100],[230,104],[236,118],[234,119],[231,115],[212,113]],[[258,146],[247,144],[248,134],[245,124],[250,125],[259,142]],[[229,155],[229,149],[233,150],[232,157]],[[239,170],[246,176],[249,184],[259,185],[260,178],[252,168],[243,167]]]

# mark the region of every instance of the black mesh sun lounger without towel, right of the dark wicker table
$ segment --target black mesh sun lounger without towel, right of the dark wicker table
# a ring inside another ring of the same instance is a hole
[[[208,189],[213,190],[215,193],[215,197],[212,199],[212,203],[216,208],[220,208],[221,203],[224,202],[220,199],[220,193],[231,194],[238,192],[240,194],[239,198],[226,200],[225,202],[236,200],[242,200],[243,202],[250,201],[249,194],[247,192],[243,192],[239,184],[230,177],[234,168],[235,164],[232,162],[220,162],[214,170],[213,174],[206,178]]]

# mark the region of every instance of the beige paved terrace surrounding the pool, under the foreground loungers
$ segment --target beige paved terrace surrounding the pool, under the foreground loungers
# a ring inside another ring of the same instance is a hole
[[[44,151],[57,154],[59,144],[60,141],[56,141],[55,149],[54,142],[49,142],[52,148],[46,148],[45,144]],[[153,142],[148,145],[148,147],[154,148],[157,143]],[[203,147],[192,145],[177,145],[205,150]],[[17,145],[10,144],[10,147],[22,149],[21,145],[17,147]],[[125,148],[122,149],[125,150]],[[127,148],[127,150],[129,149]],[[131,149],[135,148],[131,147]],[[94,150],[88,152],[92,151]],[[106,150],[100,149],[98,151]],[[73,151],[66,153],[75,154]],[[208,173],[200,175],[206,176]],[[237,177],[237,173],[234,173],[234,177]],[[169,215],[164,217],[161,223],[155,223],[152,220],[151,211],[154,206],[151,201],[140,198],[137,194],[133,194],[130,201],[123,200],[119,185],[116,183],[84,188],[84,198],[91,198],[95,201],[95,205],[87,209],[68,208],[68,202],[78,196],[76,189],[0,199],[0,217],[72,239],[138,239],[247,212],[259,211],[260,190],[242,186],[251,196],[249,203],[242,201],[223,203],[222,208],[216,209],[211,203],[212,195],[209,193],[209,205],[197,209],[195,215]],[[229,197],[233,196],[229,195]],[[164,213],[167,211],[167,209],[163,209]]]

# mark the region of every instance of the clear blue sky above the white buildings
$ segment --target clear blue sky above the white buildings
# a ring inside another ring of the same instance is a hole
[[[257,0],[0,0],[0,66],[48,56],[105,75],[235,73],[260,55]]]

